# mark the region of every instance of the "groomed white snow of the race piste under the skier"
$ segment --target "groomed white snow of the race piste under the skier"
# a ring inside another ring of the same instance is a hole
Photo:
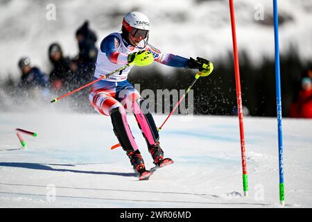
[[[155,115],[157,125],[165,115]],[[132,115],[132,133],[153,161]],[[277,121],[245,117],[249,196],[243,197],[237,117],[178,116],[160,142],[175,163],[139,181],[109,117],[1,112],[0,207],[280,207]],[[21,148],[15,128],[23,135]],[[312,207],[312,121],[284,119],[286,207]]]

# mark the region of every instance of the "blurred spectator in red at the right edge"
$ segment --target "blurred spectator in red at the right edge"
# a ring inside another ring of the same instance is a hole
[[[309,77],[302,78],[302,89],[297,101],[291,103],[290,117],[312,118],[312,80]]]

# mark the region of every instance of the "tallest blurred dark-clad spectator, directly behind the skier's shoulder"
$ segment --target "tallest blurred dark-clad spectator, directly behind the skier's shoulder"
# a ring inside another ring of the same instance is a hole
[[[79,47],[77,58],[78,64],[78,79],[80,83],[86,83],[92,80],[94,72],[94,64],[98,56],[96,48],[96,34],[89,29],[89,22],[85,21],[82,26],[76,31],[76,39]]]

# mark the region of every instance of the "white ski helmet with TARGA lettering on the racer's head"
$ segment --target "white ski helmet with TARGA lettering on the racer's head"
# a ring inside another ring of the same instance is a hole
[[[148,42],[149,30],[150,21],[148,17],[141,12],[128,12],[123,18],[123,31],[127,31],[132,37],[146,39],[144,45]]]

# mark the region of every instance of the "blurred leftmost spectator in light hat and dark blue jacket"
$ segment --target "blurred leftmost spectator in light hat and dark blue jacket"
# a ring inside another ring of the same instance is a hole
[[[31,89],[33,87],[46,87],[48,78],[37,67],[31,67],[31,60],[28,57],[22,57],[19,62],[21,69],[21,81],[19,87]]]

